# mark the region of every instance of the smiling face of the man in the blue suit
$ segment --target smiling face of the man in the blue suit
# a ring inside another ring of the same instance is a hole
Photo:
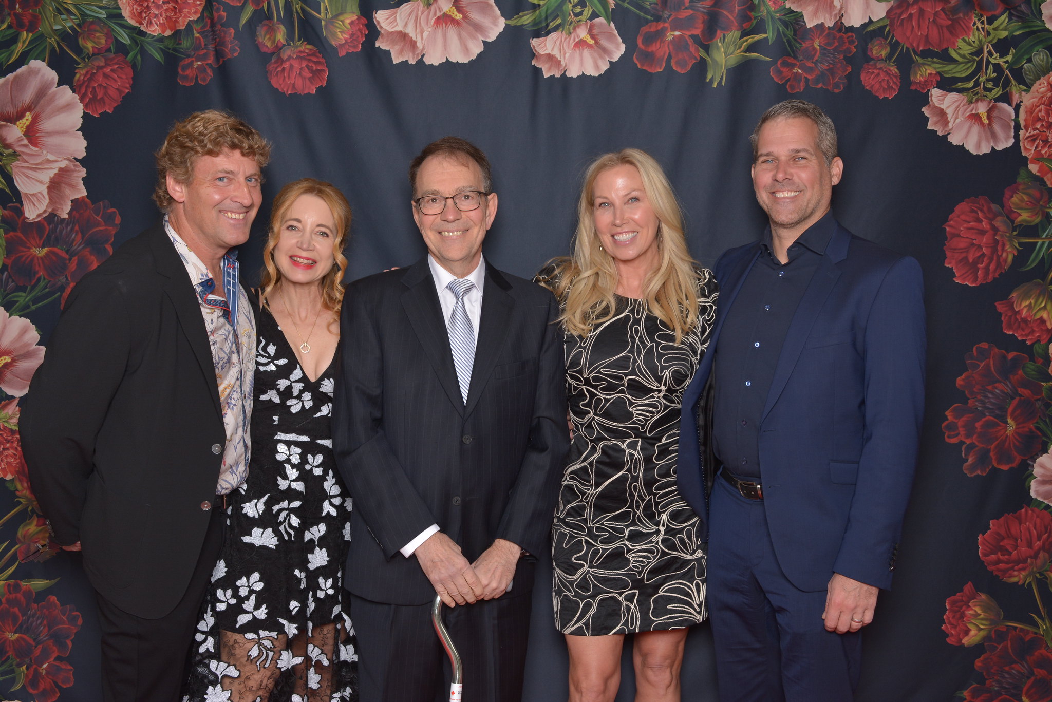
[[[760,129],[752,187],[771,232],[795,239],[829,212],[833,185],[841,181],[839,157],[826,164],[818,126],[806,117],[771,120]]]

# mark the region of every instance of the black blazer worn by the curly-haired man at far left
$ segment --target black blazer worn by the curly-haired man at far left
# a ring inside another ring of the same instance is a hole
[[[201,551],[225,444],[186,268],[158,224],[69,295],[22,403],[29,481],[115,605],[163,617]]]

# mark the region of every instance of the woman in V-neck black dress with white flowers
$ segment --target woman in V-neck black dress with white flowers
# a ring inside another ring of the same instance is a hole
[[[198,624],[185,700],[357,700],[342,575],[350,498],[329,413],[350,207],[291,182],[275,199],[259,290],[248,478]]]

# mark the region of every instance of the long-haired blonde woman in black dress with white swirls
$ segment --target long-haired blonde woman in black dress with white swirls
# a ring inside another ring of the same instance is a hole
[[[680,699],[705,610],[699,519],[675,482],[680,402],[715,317],[661,166],[626,148],[585,175],[573,255],[538,277],[559,298],[573,445],[552,526],[555,625],[570,702],[611,701],[634,635],[636,702]]]

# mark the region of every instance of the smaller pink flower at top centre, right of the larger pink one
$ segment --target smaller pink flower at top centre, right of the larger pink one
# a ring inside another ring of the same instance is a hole
[[[555,32],[547,37],[530,39],[533,65],[544,71],[545,78],[573,78],[581,74],[598,76],[625,53],[625,43],[618,31],[604,19],[583,22],[570,34]]]

